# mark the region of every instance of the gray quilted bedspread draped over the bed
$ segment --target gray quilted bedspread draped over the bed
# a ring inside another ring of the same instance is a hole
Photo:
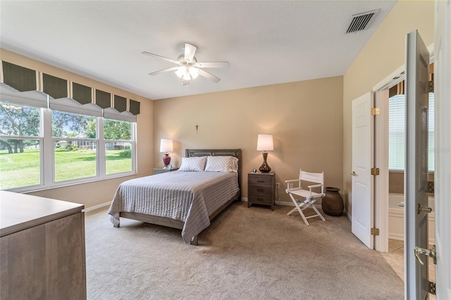
[[[183,221],[182,237],[188,243],[238,190],[237,173],[167,172],[121,183],[108,213],[115,227],[123,211]]]

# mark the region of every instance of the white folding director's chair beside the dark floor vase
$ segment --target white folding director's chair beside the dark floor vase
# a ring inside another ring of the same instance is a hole
[[[302,181],[307,181],[311,183],[317,183],[317,185],[309,185],[307,186],[309,189],[302,189]],[[295,204],[295,208],[293,208],[287,215],[290,215],[294,213],[295,211],[299,211],[302,220],[304,220],[304,223],[306,225],[310,225],[309,222],[307,222],[307,219],[319,217],[321,220],[325,221],[323,215],[318,211],[318,209],[313,205],[316,200],[323,198],[323,196],[326,196],[324,193],[324,172],[321,173],[309,173],[304,172],[303,170],[299,170],[299,179],[295,180],[285,180],[287,182],[287,189],[285,189],[285,192],[290,195],[290,198],[292,199],[293,203]],[[298,182],[297,187],[290,188],[290,183],[292,182]],[[313,192],[312,189],[318,190],[318,192]],[[321,192],[319,192],[321,190]],[[302,197],[305,200],[302,201],[302,199],[296,199],[296,197]],[[304,211],[306,208],[313,208],[316,215],[309,215],[306,217],[302,211]]]

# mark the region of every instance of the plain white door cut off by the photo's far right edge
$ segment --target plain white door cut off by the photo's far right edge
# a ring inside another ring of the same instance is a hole
[[[437,1],[435,23],[435,283],[451,299],[451,1]]]

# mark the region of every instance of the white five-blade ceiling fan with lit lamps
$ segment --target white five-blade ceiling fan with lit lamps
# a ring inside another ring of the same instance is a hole
[[[197,48],[192,44],[185,43],[185,53],[180,54],[177,59],[167,58],[146,51],[142,51],[141,53],[149,56],[156,56],[164,61],[170,61],[171,63],[177,64],[175,67],[152,72],[149,73],[149,75],[159,75],[161,73],[175,71],[175,74],[182,78],[182,85],[185,86],[190,85],[190,80],[197,78],[199,75],[208,78],[209,80],[213,80],[214,82],[219,82],[221,78],[206,72],[206,70],[202,70],[202,68],[228,68],[230,67],[230,63],[228,63],[228,61],[208,61],[199,63],[197,58],[194,56],[196,49]]]

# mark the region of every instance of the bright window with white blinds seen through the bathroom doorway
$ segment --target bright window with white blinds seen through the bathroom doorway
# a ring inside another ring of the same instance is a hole
[[[404,170],[405,159],[405,96],[395,95],[388,100],[388,168]],[[434,170],[434,94],[429,93],[428,111],[428,168]]]

